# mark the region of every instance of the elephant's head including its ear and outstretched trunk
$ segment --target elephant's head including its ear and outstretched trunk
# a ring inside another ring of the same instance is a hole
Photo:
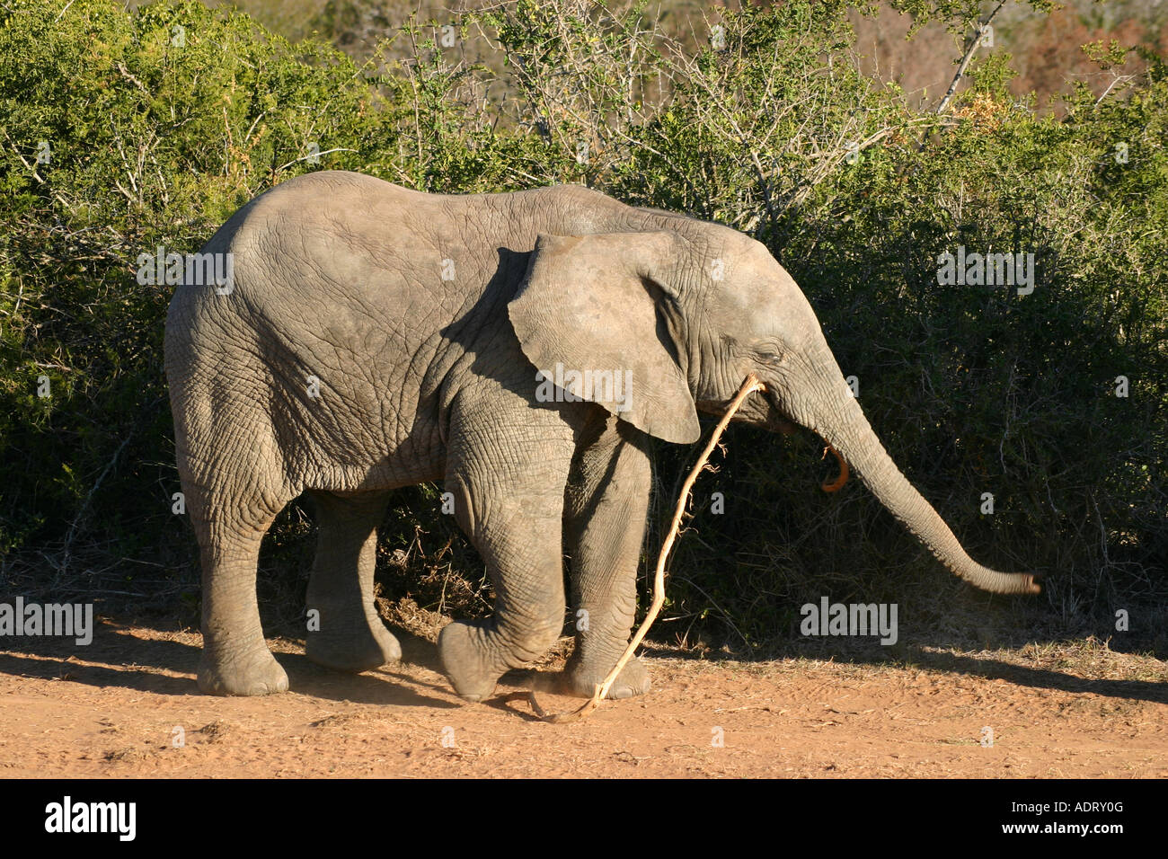
[[[700,221],[661,223],[669,228],[540,236],[509,309],[536,368],[564,392],[680,443],[698,438],[698,410],[724,411],[753,373],[765,390],[748,399],[738,420],[814,430],[961,579],[1001,594],[1038,591],[1030,575],[972,560],[901,473],[807,299],[763,244]]]

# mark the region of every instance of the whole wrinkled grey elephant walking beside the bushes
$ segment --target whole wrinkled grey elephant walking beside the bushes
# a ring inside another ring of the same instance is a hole
[[[320,528],[308,656],[354,672],[397,659],[374,609],[375,528],[392,490],[442,480],[498,594],[488,621],[443,630],[456,691],[481,700],[556,640],[566,554],[589,623],[564,680],[590,695],[633,623],[647,436],[696,441],[697,413],[721,414],[748,373],[766,389],[737,420],[814,430],[951,570],[1036,590],[966,555],[874,435],[799,288],[732,229],[575,186],[442,196],[322,172],[252,200],[203,251],[234,254],[234,291],[178,288],[166,372],[201,547],[206,692],[287,688],[256,561],[305,491]],[[540,401],[536,368],[557,362],[631,372],[627,408]],[[610,697],[648,687],[633,661]]]

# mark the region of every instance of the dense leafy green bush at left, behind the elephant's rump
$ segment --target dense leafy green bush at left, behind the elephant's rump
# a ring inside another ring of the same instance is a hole
[[[65,6],[0,19],[4,590],[144,594],[189,540],[172,552],[169,290],[137,282],[138,255],[196,250],[298,173],[384,160],[394,132],[327,44],[197,2]]]

